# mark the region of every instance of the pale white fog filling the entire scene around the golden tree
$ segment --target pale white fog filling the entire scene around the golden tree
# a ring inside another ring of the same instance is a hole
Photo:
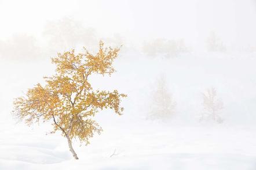
[[[255,169],[255,0],[0,0],[0,21],[0,169]],[[13,100],[55,74],[57,52],[100,40],[120,47],[116,72],[89,81],[127,94],[125,111],[95,116],[104,131],[74,141],[75,162],[52,122],[17,123]]]

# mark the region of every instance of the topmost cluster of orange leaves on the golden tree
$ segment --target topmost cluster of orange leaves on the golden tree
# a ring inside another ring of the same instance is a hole
[[[75,50],[58,53],[52,62],[56,64],[56,71],[60,74],[68,74],[78,79],[79,76],[90,75],[91,73],[109,74],[114,73],[112,63],[118,56],[119,48],[104,48],[103,41],[100,41],[99,50],[96,55],[91,54],[84,48],[85,53],[75,54]]]

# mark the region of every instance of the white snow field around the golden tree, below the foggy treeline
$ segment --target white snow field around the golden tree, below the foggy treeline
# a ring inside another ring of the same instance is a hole
[[[50,123],[27,127],[11,115],[12,102],[44,75],[54,74],[50,60],[0,63],[0,169],[256,169],[256,55],[189,53],[148,58],[140,52],[120,54],[111,77],[93,76],[97,89],[118,89],[122,116],[102,111],[103,127],[87,146],[74,141],[74,160]],[[164,74],[177,102],[164,122],[147,120],[155,81]],[[221,124],[199,122],[202,92],[214,87],[224,103]]]

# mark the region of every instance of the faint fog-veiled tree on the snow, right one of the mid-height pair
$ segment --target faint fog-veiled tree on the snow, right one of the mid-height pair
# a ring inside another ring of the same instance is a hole
[[[223,109],[223,102],[217,99],[217,92],[214,88],[207,89],[203,93],[203,113],[200,121],[204,119],[212,119],[218,123],[222,123],[220,112]]]

